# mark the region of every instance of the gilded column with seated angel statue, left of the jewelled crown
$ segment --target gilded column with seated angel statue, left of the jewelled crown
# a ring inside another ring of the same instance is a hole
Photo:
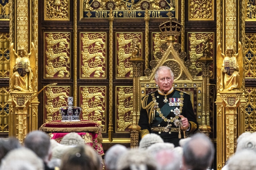
[[[23,143],[38,128],[37,0],[10,1],[10,68],[9,136]]]

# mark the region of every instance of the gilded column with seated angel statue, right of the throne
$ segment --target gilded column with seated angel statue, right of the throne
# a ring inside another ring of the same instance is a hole
[[[243,11],[244,1],[217,0],[217,99],[215,103],[217,105],[218,170],[234,154],[237,136],[245,129],[243,50],[245,39],[241,33],[244,31]],[[237,54],[235,54],[236,50]]]

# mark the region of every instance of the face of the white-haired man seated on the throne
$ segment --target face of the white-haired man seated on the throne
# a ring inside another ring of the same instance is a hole
[[[158,79],[155,79],[159,89],[166,93],[172,88],[173,80],[171,79],[171,73],[169,70],[160,70]]]

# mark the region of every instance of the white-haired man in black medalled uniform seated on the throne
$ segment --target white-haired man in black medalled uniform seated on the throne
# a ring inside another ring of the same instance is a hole
[[[174,75],[167,66],[155,73],[158,90],[142,98],[138,125],[140,137],[156,133],[164,142],[179,146],[179,140],[198,129],[190,96],[173,89]]]

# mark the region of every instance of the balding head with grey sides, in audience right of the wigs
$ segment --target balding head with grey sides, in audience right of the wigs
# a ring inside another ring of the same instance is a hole
[[[206,170],[214,158],[214,146],[202,133],[194,134],[183,145],[183,166],[186,170]]]

